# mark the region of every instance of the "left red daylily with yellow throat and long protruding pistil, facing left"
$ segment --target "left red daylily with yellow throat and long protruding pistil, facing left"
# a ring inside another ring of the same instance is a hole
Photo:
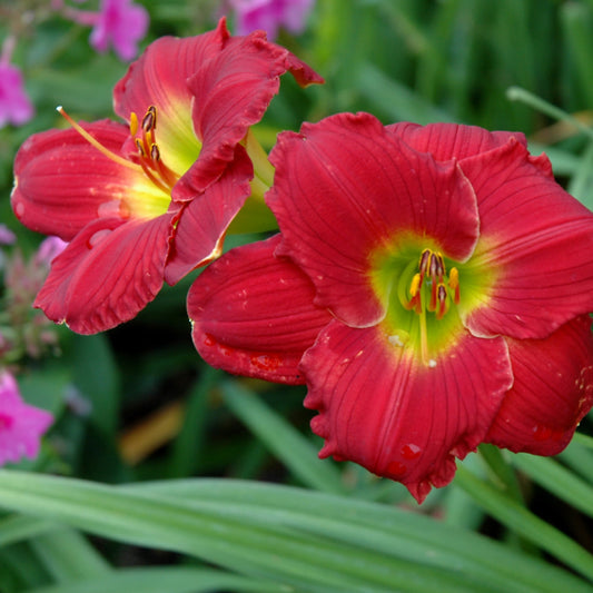
[[[66,116],[72,129],[29,138],[13,211],[69,241],[34,305],[75,332],[100,332],[135,317],[164,279],[220,255],[251,190],[255,200],[271,180],[249,127],[286,71],[302,86],[322,81],[261,31],[230,37],[223,19],[198,37],[158,39],[130,66],[113,92],[127,123]]]

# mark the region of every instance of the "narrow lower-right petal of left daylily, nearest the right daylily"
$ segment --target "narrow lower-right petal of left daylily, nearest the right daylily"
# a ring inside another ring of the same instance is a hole
[[[253,167],[241,146],[223,176],[187,204],[177,224],[165,279],[176,284],[192,269],[218,257],[225,233],[249,196]]]

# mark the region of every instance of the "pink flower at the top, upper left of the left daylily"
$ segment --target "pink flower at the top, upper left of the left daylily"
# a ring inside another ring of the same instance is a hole
[[[138,42],[145,37],[148,23],[146,9],[131,0],[102,0],[90,45],[99,52],[112,45],[122,60],[131,60],[138,53]]]

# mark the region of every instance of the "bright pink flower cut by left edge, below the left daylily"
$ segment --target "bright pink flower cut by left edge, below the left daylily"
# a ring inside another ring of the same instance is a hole
[[[0,466],[22,457],[34,459],[41,435],[52,421],[49,412],[22,401],[10,373],[0,373]]]

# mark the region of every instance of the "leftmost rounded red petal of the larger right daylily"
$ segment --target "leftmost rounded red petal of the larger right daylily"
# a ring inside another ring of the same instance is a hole
[[[194,283],[187,307],[197,350],[211,366],[276,383],[302,384],[298,363],[330,315],[313,306],[313,286],[274,257],[279,236],[231,249]]]

